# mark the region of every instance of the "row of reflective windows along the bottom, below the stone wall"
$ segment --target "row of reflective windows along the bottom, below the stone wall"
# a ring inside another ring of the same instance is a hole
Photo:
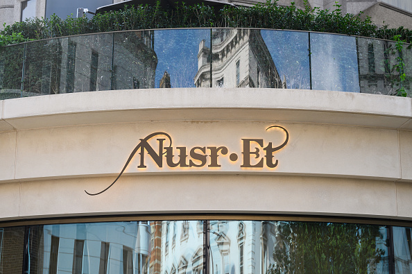
[[[386,226],[204,222],[208,223],[207,243],[204,233],[198,231],[198,221],[2,228],[0,273],[389,273]],[[166,228],[171,226],[175,228],[175,247],[169,246],[166,253],[166,234],[173,233],[173,229]],[[393,243],[397,273],[411,273],[411,228],[393,228]],[[25,247],[28,248],[25,262],[29,267],[22,269]],[[209,250],[206,257],[203,250]],[[208,273],[203,271],[205,259]]]

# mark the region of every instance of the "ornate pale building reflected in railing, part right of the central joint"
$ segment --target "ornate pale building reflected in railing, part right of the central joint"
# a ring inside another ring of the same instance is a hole
[[[286,88],[261,31],[250,29],[212,30],[212,82],[212,87]]]

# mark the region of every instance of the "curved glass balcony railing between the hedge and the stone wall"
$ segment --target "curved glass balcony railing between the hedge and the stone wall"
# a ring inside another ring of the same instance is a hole
[[[396,67],[404,62],[406,80]],[[0,99],[169,87],[409,93],[412,50],[329,33],[190,28],[96,33],[0,49]],[[411,96],[412,92],[408,95]]]

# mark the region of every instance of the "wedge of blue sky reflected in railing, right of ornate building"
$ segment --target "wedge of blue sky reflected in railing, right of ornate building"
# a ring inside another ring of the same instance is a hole
[[[261,30],[261,36],[288,89],[310,89],[309,34]]]

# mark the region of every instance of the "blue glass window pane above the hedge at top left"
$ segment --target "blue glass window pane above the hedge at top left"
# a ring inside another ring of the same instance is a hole
[[[62,19],[66,19],[71,14],[76,17],[77,8],[88,8],[94,12],[98,7],[110,5],[111,3],[113,3],[113,0],[47,0],[46,17],[49,18],[53,13]],[[92,15],[87,14],[87,17],[92,18]]]

